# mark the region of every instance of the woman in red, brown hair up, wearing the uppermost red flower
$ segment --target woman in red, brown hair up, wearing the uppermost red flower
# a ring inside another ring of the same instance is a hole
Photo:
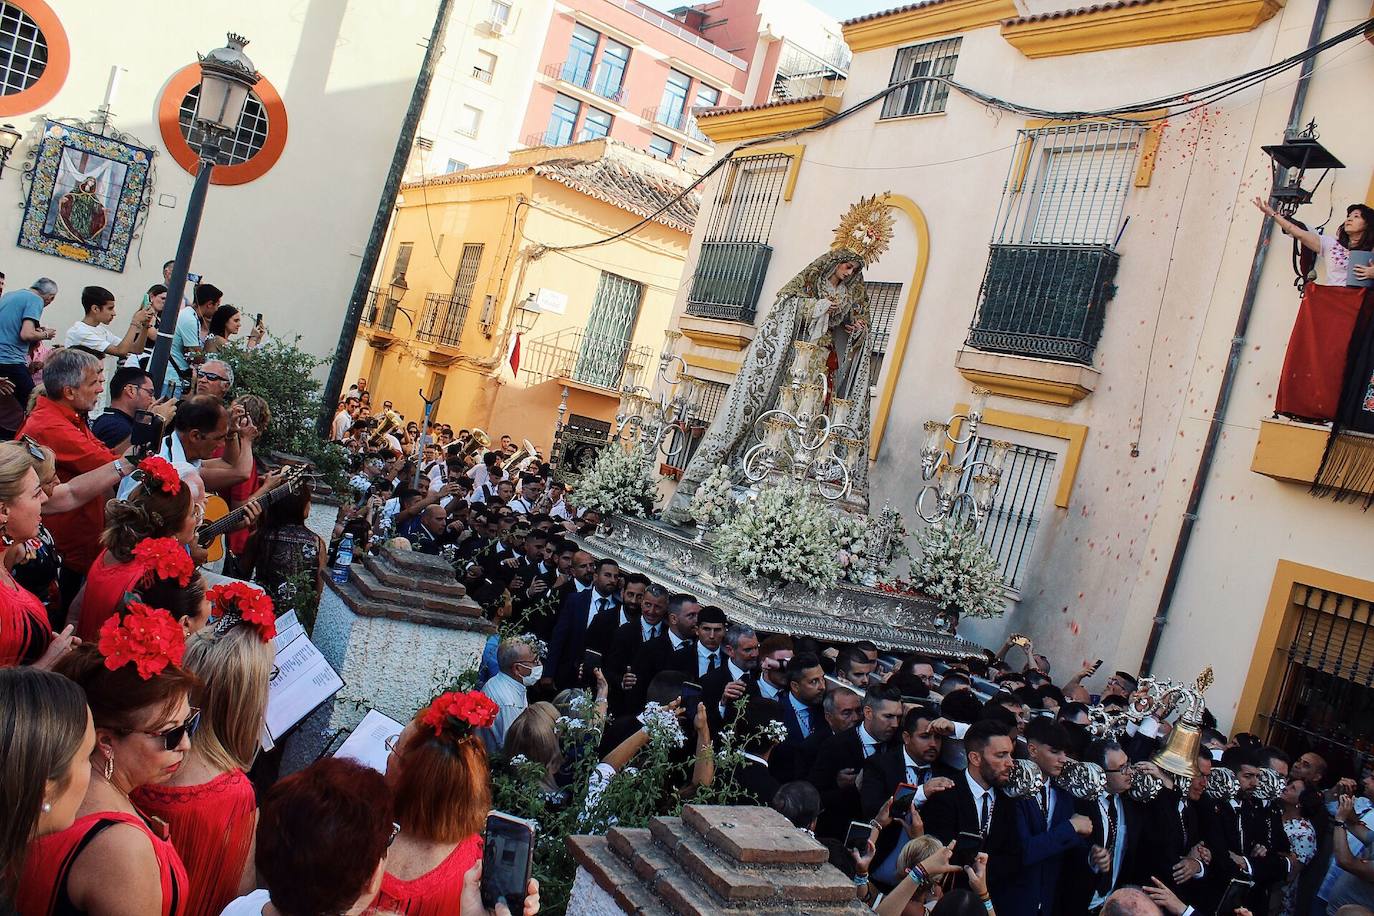
[[[77,636],[91,641],[100,625],[114,614],[124,596],[147,571],[133,555],[148,540],[174,538],[188,545],[195,537],[196,503],[191,486],[177,477],[166,460],[153,456],[139,463],[142,483],[126,500],[111,500],[104,509],[104,549],[91,563],[85,585],[71,602],[69,622],[77,622]],[[187,553],[190,558],[190,553]]]

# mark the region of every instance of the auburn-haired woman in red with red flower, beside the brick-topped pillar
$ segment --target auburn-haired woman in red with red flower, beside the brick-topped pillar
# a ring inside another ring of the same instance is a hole
[[[401,832],[370,913],[459,912],[463,875],[482,858],[492,806],[486,748],[475,729],[495,720],[486,695],[444,694],[389,742],[386,781]]]

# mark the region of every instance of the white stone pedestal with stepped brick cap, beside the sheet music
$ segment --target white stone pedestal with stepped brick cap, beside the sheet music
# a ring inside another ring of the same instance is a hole
[[[348,582],[326,580],[311,639],[344,689],[287,737],[282,775],[313,762],[368,709],[409,721],[441,678],[477,667],[495,632],[437,556],[383,549],[354,562]]]

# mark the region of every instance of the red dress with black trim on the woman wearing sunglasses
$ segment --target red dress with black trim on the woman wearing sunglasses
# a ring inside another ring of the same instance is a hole
[[[65,831],[29,843],[23,875],[19,878],[19,895],[15,898],[19,916],[80,916],[82,911],[67,895],[71,865],[98,834],[115,824],[137,827],[153,843],[153,853],[158,858],[158,878],[162,880],[162,908],[158,913],[184,916],[190,884],[176,849],[166,836],[159,835],[161,831],[154,824],[124,812],[87,814]]]

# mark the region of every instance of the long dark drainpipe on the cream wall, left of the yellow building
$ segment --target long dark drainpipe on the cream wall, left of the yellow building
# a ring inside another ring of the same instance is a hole
[[[320,417],[316,423],[316,430],[326,439],[330,437],[330,424],[334,422],[334,409],[339,402],[339,394],[344,393],[344,374],[348,372],[348,361],[353,354],[353,341],[357,338],[357,325],[363,319],[363,305],[367,302],[367,291],[372,286],[376,262],[382,258],[382,242],[386,239],[387,229],[392,225],[392,210],[396,207],[396,195],[401,190],[405,163],[409,162],[411,147],[415,146],[415,133],[419,130],[420,115],[425,113],[425,102],[429,99],[430,85],[434,82],[434,70],[438,69],[440,55],[444,54],[444,33],[448,30],[448,19],[452,11],[453,0],[438,0],[438,11],[434,14],[434,27],[430,32],[429,47],[425,48],[425,59],[420,63],[419,76],[415,77],[411,104],[405,108],[401,132],[396,137],[396,150],[392,152],[392,168],[386,172],[386,181],[382,184],[382,199],[376,203],[376,213],[372,217],[372,231],[367,236],[367,247],[363,249],[363,261],[357,268],[357,279],[353,280],[353,294],[349,297],[348,309],[344,312],[339,339],[334,346],[334,364],[330,367],[328,379],[324,382],[324,393],[320,394]]]

